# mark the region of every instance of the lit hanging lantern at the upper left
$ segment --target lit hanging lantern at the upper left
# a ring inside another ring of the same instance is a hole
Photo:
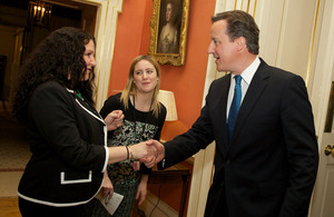
[[[52,6],[42,1],[29,1],[28,21],[32,26],[49,27]]]

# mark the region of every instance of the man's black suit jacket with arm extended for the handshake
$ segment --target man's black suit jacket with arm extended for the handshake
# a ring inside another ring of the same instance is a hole
[[[215,174],[205,216],[306,216],[317,172],[318,150],[303,79],[263,60],[227,141],[226,103],[230,75],[215,80],[193,127],[165,144],[159,167],[177,164],[216,141]],[[222,216],[222,215],[220,215]]]

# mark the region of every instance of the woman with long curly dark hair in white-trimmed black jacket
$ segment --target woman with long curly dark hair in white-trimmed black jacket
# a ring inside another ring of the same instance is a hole
[[[94,107],[95,39],[76,28],[53,31],[22,68],[13,116],[27,125],[32,152],[19,184],[22,216],[81,216],[99,191],[107,165],[125,159],[153,159],[145,142],[107,147],[107,131],[122,125],[120,110],[105,119]]]

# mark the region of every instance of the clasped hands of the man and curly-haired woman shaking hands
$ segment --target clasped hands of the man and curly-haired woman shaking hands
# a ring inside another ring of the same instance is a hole
[[[151,168],[165,158],[165,147],[157,140],[143,141],[131,146],[131,157]]]

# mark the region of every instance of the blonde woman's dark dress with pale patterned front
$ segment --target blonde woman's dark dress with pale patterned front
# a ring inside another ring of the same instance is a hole
[[[108,147],[129,146],[146,141],[149,139],[160,139],[160,132],[166,118],[166,108],[161,105],[158,118],[156,118],[153,111],[143,112],[134,108],[131,102],[128,102],[128,109],[125,109],[120,101],[120,93],[109,97],[100,115],[105,118],[112,110],[122,110],[125,115],[124,124],[120,128],[108,132]],[[138,165],[138,161],[124,160],[112,165],[108,165],[108,176],[112,183],[114,191],[124,195],[124,199],[116,213],[112,216],[128,217],[131,214],[137,187],[139,183],[139,172],[149,175],[148,169],[144,164],[140,165],[139,170],[135,170],[134,167]],[[89,203],[89,216],[110,216],[105,207],[94,199]]]

